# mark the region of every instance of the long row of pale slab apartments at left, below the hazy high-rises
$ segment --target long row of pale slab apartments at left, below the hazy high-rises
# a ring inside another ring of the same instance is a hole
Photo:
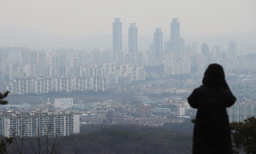
[[[115,73],[115,72],[112,72]],[[118,73],[116,72],[118,77]],[[116,78],[116,82],[117,82]],[[24,78],[14,79],[6,87],[10,94],[43,94],[48,92],[72,92],[88,90],[107,90],[105,77],[81,78]]]

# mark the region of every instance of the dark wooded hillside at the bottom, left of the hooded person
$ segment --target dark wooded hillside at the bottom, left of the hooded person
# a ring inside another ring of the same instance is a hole
[[[16,137],[7,152],[21,153],[22,149],[23,154],[187,154],[192,145],[191,132],[170,131],[163,126],[92,124],[81,125],[80,132],[48,141],[41,137],[40,146],[36,138],[23,138],[22,146],[22,138]]]

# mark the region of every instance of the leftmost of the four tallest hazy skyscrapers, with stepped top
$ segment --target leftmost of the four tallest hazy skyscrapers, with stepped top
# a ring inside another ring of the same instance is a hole
[[[113,22],[113,51],[122,50],[122,23],[120,18]]]

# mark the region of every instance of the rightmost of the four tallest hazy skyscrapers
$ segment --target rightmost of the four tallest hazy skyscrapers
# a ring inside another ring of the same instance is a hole
[[[171,22],[171,51],[175,56],[180,56],[179,39],[180,39],[180,23],[178,18],[173,18]]]

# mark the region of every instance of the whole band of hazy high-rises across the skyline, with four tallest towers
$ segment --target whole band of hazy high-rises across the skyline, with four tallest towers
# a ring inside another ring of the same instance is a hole
[[[180,37],[178,18],[172,19],[170,32],[169,40],[163,42],[163,32],[156,28],[149,50],[139,51],[136,23],[130,23],[128,52],[125,52],[121,19],[115,18],[112,51],[59,48],[45,52],[28,47],[0,47],[0,81],[12,94],[105,91],[107,85],[145,80],[147,66],[164,66],[165,75],[201,76],[213,62],[221,64],[225,72],[256,70],[255,58],[237,57],[237,44],[233,40],[226,51],[219,46],[209,48],[208,44],[201,44],[199,53],[197,43],[185,45]]]

